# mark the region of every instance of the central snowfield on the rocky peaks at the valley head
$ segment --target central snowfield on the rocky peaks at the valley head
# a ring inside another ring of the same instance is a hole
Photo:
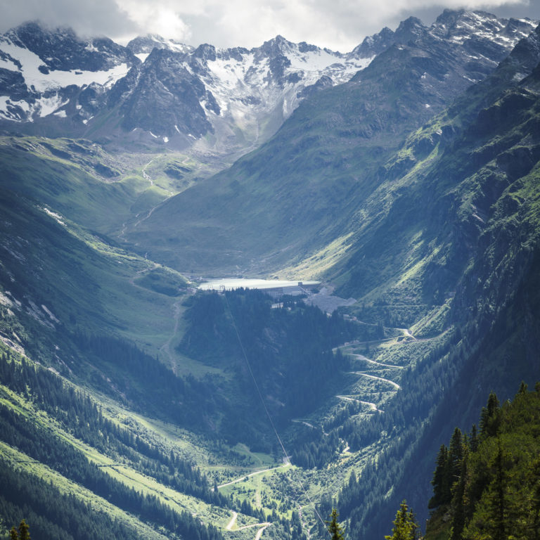
[[[219,116],[207,113],[214,130],[223,131],[223,122],[229,121],[253,141],[264,139],[262,124],[269,117],[274,116],[274,126],[281,125],[304,98],[303,90],[321,77],[330,85],[341,84],[373,60],[282,37],[250,51],[215,49],[201,56],[191,68],[219,105]],[[205,101],[200,103],[205,108]]]

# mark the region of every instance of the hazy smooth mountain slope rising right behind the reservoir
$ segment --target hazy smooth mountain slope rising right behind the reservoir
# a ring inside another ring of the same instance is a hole
[[[264,272],[351,231],[392,153],[469,84],[456,58],[443,62],[441,44],[418,39],[305,100],[259,150],[168,200],[125,238],[182,271]]]

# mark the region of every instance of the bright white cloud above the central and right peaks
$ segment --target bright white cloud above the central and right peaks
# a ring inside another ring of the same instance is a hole
[[[290,41],[350,51],[366,35],[395,28],[409,15],[430,24],[444,8],[501,6],[532,8],[527,0],[378,0],[376,8],[371,0],[199,0],[198,13],[180,14],[198,43],[250,47],[281,34]]]

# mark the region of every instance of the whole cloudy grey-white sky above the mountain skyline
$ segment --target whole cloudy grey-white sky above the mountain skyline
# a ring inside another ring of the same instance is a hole
[[[122,44],[155,33],[194,46],[253,47],[281,34],[347,52],[409,15],[431,24],[444,8],[461,7],[540,19],[540,0],[0,0],[0,32],[41,20]]]

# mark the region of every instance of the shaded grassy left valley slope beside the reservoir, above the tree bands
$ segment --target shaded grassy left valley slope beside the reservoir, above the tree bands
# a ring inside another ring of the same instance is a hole
[[[3,190],[0,207],[6,338],[13,340],[20,326],[19,344],[55,363],[55,354],[69,357],[55,347],[81,331],[124,335],[149,350],[174,334],[172,308],[186,287],[182,276],[111,248],[10,190]]]

